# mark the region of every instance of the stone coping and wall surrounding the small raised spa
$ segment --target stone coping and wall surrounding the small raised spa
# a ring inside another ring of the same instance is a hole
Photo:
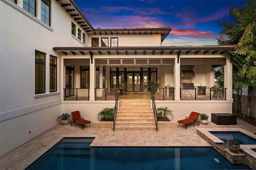
[[[239,131],[256,139],[256,134],[248,132],[242,128],[197,128],[196,132],[212,145],[222,156],[227,158],[232,164],[246,164],[252,169],[256,169],[256,152],[250,148],[256,148],[256,144],[241,144],[238,153],[231,152],[222,140],[211,134],[210,131]]]

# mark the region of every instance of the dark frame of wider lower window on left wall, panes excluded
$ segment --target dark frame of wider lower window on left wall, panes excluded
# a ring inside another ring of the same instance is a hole
[[[39,54],[39,60],[36,59],[37,53]],[[44,57],[43,61],[40,61],[40,55],[43,55],[43,57]],[[39,70],[36,69],[36,65],[39,66],[38,67]],[[40,70],[40,66],[43,66],[43,71]],[[38,74],[37,74],[37,71],[39,72]],[[40,75],[41,75],[40,72],[44,73],[42,75],[43,77],[40,77]],[[39,75],[39,77],[37,77],[37,75]],[[45,93],[45,81],[46,81],[45,76],[46,76],[46,53],[44,53],[42,51],[35,50],[35,94]],[[39,79],[38,84],[37,84],[37,79]],[[42,88],[42,86],[44,86],[44,87]]]

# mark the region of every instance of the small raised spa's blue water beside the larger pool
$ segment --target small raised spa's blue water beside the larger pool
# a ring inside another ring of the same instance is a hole
[[[225,142],[224,144],[228,146],[228,140],[237,140],[240,144],[256,144],[256,139],[248,136],[239,131],[209,131],[211,134]]]

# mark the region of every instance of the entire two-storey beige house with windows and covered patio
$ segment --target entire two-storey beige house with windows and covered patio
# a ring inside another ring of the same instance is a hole
[[[172,109],[174,120],[232,113],[234,45],[163,47],[171,28],[95,29],[73,0],[1,0],[0,15],[0,156],[60,123],[62,113],[98,121],[114,107],[104,97],[115,87],[149,93],[147,83],[159,83],[165,99],[156,106]],[[214,99],[218,65],[224,89]]]

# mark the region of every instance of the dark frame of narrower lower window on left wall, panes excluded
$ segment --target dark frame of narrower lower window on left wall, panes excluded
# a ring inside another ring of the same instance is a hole
[[[55,58],[56,63],[51,63],[51,61],[52,61],[51,57]],[[58,81],[58,74],[57,74],[58,67],[57,66],[58,66],[58,57],[50,55],[50,67],[49,67],[49,69],[50,69],[50,71],[49,71],[49,75],[50,75],[50,77],[49,77],[50,93],[58,91],[57,90],[58,89],[58,83],[57,83],[57,81]],[[56,78],[55,79],[54,79],[54,76],[52,76],[53,72],[51,71],[51,67],[55,68],[55,72],[54,72],[56,74]],[[51,82],[52,82],[52,84],[51,84]],[[54,88],[52,88],[54,86],[54,83],[55,83],[56,88],[55,88],[55,90],[52,90],[52,89],[54,89]]]

